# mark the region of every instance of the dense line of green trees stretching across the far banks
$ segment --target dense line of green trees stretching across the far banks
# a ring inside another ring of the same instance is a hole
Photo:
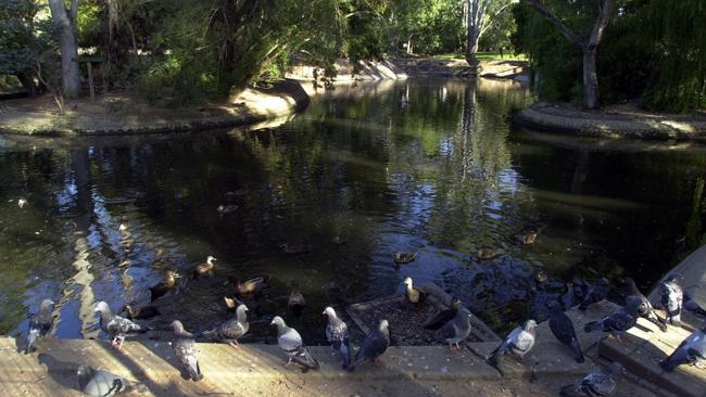
[[[0,87],[73,97],[77,59],[100,59],[108,89],[176,103],[223,99],[292,62],[527,53],[540,97],[587,107],[706,105],[701,0],[5,0]]]

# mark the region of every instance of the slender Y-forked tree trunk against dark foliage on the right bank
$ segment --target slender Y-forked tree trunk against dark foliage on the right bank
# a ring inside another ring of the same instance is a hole
[[[547,18],[567,40],[581,49],[583,53],[583,105],[588,108],[598,107],[598,76],[596,73],[596,54],[605,28],[608,26],[613,13],[614,0],[602,0],[600,12],[588,38],[582,38],[569,29],[562,21],[546,8],[540,0],[524,0],[529,2]]]

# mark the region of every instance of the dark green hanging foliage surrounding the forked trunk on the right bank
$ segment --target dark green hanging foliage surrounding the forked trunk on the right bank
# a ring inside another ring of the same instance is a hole
[[[546,1],[563,23],[585,37],[595,1]],[[541,98],[579,102],[581,51],[529,5],[513,10],[510,41],[539,71]],[[601,42],[601,102],[640,101],[655,111],[690,112],[706,105],[706,4],[701,1],[618,0]]]

